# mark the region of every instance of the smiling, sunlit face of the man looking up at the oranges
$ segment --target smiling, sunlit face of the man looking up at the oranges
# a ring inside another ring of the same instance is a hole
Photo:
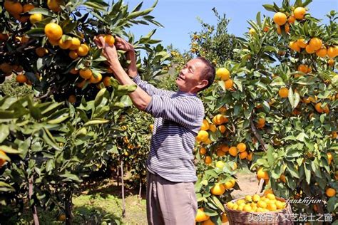
[[[185,64],[176,79],[178,89],[186,93],[197,93],[198,90],[208,85],[208,80],[202,78],[204,68],[205,63],[198,58],[194,58]]]

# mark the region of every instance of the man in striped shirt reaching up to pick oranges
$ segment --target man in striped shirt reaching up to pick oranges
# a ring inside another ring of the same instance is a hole
[[[161,90],[140,79],[133,46],[116,37],[115,46],[96,38],[116,79],[122,85],[137,84],[129,96],[136,108],[155,117],[147,161],[147,217],[149,224],[195,224],[197,201],[193,163],[195,137],[205,115],[196,96],[215,79],[215,68],[205,58],[190,60],[178,75],[178,92]],[[128,75],[118,61],[116,48],[126,51]]]

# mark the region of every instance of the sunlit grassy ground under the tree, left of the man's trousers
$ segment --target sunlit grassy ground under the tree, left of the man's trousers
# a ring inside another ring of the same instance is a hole
[[[143,190],[145,191],[145,190]],[[73,197],[73,224],[147,224],[145,197],[139,199],[138,190],[125,189],[126,214],[122,216],[121,187],[106,179],[83,189]],[[10,209],[9,209],[10,211]],[[40,224],[63,224],[58,221],[60,211],[43,211],[38,208]],[[1,224],[33,224],[29,206],[23,214],[13,216]]]

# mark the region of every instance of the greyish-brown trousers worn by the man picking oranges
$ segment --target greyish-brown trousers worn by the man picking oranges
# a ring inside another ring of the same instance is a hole
[[[170,182],[147,173],[148,224],[193,225],[197,207],[193,182]]]

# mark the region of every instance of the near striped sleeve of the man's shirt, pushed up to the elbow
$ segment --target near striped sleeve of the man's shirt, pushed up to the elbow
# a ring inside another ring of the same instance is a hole
[[[177,122],[186,128],[200,127],[198,118],[204,114],[203,104],[190,97],[170,98],[163,95],[153,95],[145,112],[153,117]]]

